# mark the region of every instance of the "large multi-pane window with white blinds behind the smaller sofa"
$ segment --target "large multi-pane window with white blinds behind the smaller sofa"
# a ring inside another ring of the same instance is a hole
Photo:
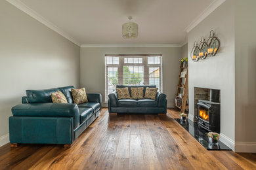
[[[106,55],[105,101],[116,84],[156,85],[162,91],[161,55]]]

